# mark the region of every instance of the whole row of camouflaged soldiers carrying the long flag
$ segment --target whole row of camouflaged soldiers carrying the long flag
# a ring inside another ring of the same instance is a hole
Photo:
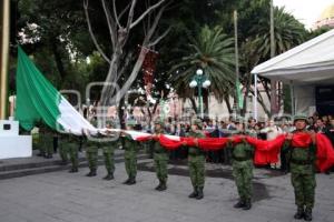
[[[295,219],[304,219],[305,221],[312,221],[312,209],[314,206],[315,195],[315,160],[316,160],[316,145],[315,134],[312,134],[313,142],[308,148],[294,148],[292,147],[292,139],[295,133],[306,132],[307,117],[296,115],[294,118],[294,124],[296,130],[293,133],[288,133],[286,141],[283,145],[282,151],[287,152],[289,157],[291,172],[292,172],[292,184],[295,192],[295,204],[297,205],[297,212]],[[126,130],[134,130],[134,121],[127,122]],[[108,123],[107,128],[114,128],[112,123]],[[242,138],[242,142],[236,143],[233,138],[229,139],[227,149],[232,157],[233,175],[237,186],[239,201],[234,208],[249,210],[252,208],[252,195],[253,195],[253,158],[254,147],[252,147],[246,140],[245,135],[254,137],[250,132],[245,130],[243,123],[237,123],[237,131],[235,134]],[[154,165],[156,175],[159,180],[159,184],[156,188],[157,191],[165,191],[167,189],[168,171],[167,164],[169,154],[168,151],[161,147],[157,138],[164,134],[164,122],[155,121],[155,139],[150,140],[149,143],[154,148]],[[114,134],[107,134],[109,138],[115,138]],[[205,138],[202,131],[202,121],[196,119],[191,122],[191,130],[186,135],[190,138]],[[66,134],[62,135],[62,144],[60,147],[60,153],[63,161],[68,160],[68,154],[72,163],[70,172],[78,172],[78,137]],[[124,184],[135,184],[137,175],[137,153],[139,150],[139,142],[134,140],[126,131],[120,133],[119,140],[105,140],[106,135],[98,134],[94,135],[92,140],[87,141],[87,160],[90,172],[87,176],[97,175],[97,161],[98,150],[104,150],[105,165],[107,175],[105,180],[114,179],[115,160],[114,152],[118,147],[118,142],[122,143],[125,153],[125,168],[128,174],[128,179]],[[184,144],[186,145],[186,144]],[[198,144],[188,147],[188,168],[190,181],[193,184],[193,192],[189,198],[200,200],[204,198],[204,184],[205,184],[205,161],[206,153],[198,148]]]

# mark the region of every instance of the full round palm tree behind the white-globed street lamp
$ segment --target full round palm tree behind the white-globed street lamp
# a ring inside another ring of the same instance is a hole
[[[220,27],[210,29],[207,26],[200,29],[196,38],[188,39],[189,43],[181,49],[185,57],[178,58],[170,70],[177,93],[181,98],[189,98],[196,110],[191,99],[194,90],[189,88],[189,82],[200,68],[212,82],[210,90],[215,98],[219,102],[226,101],[235,87],[234,39],[228,38]]]

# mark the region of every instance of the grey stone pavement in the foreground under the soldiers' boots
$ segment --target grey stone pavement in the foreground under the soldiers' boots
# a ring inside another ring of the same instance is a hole
[[[157,192],[151,160],[141,160],[137,184],[129,186],[124,163],[116,164],[116,180],[87,178],[87,168],[70,174],[58,171],[0,181],[1,222],[289,222],[295,212],[289,174],[255,170],[255,202],[250,211],[236,210],[230,168],[207,164],[205,198],[191,200],[187,168],[170,164],[168,190]],[[314,221],[333,222],[334,174],[317,174]]]

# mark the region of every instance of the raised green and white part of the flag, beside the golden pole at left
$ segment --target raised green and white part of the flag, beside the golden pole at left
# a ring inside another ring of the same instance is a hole
[[[42,75],[23,50],[18,48],[16,120],[24,130],[43,121],[55,130],[81,134],[96,129]]]

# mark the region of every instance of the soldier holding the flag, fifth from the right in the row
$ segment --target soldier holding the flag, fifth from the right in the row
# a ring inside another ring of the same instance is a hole
[[[134,130],[136,122],[132,120],[127,121],[127,130]],[[132,140],[131,135],[126,132],[121,132],[122,144],[124,144],[124,159],[126,172],[128,174],[128,179],[124,182],[124,184],[132,185],[136,183],[137,175],[137,152],[138,152],[138,142]]]

